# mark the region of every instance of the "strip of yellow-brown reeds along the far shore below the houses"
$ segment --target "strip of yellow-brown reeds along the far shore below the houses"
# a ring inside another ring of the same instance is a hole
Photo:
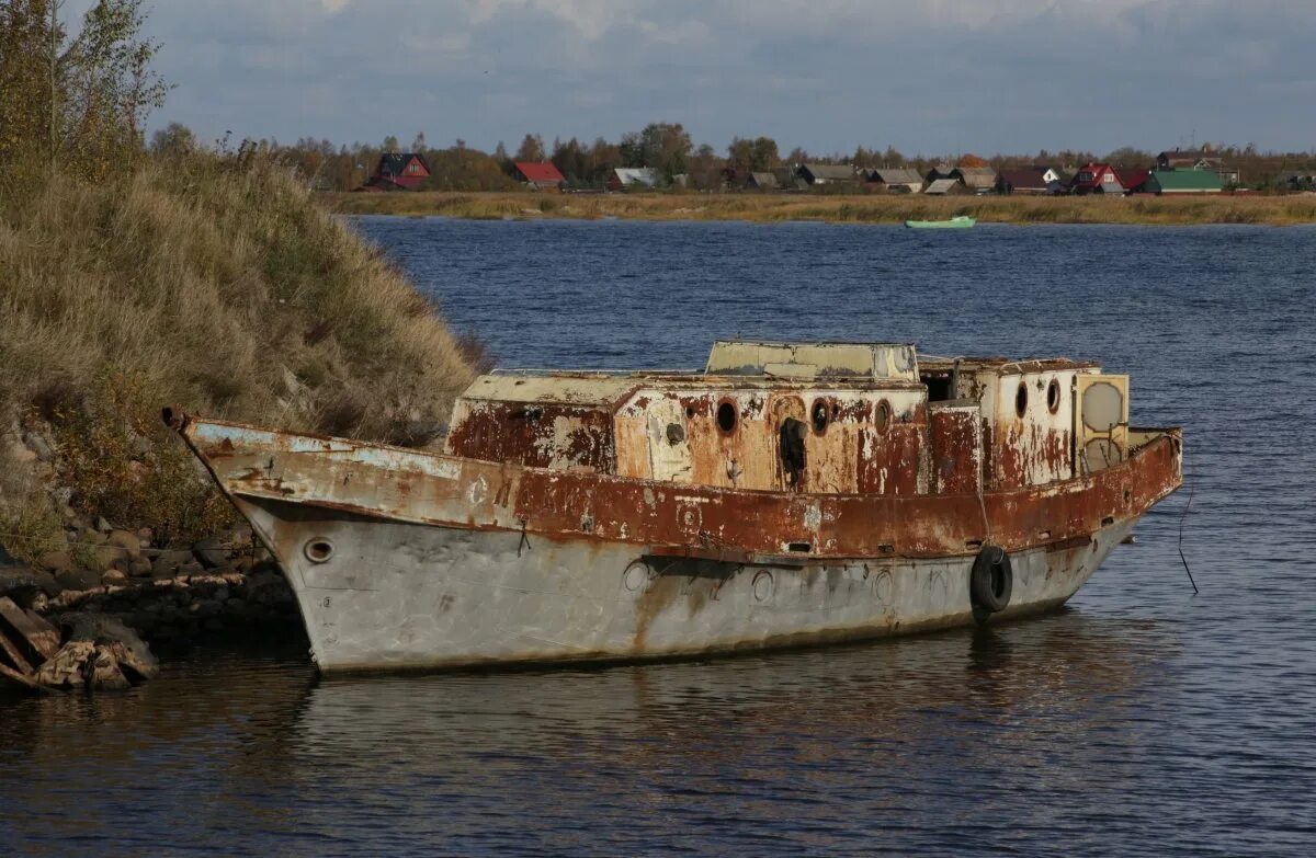
[[[320,193],[341,214],[470,220],[730,220],[901,224],[970,214],[990,224],[1316,224],[1316,195],[1286,196],[944,196],[829,193],[555,193],[420,191]]]

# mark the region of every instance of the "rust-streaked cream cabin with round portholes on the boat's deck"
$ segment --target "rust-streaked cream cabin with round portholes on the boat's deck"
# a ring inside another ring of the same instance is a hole
[[[978,493],[1128,453],[1128,376],[900,343],[717,342],[703,372],[492,372],[446,453],[622,478],[807,493]]]

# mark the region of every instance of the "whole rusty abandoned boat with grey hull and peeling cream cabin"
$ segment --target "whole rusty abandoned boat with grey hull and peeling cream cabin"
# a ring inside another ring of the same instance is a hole
[[[166,411],[322,671],[876,638],[1063,604],[1180,484],[1126,375],[717,342],[703,372],[494,372],[443,453]]]

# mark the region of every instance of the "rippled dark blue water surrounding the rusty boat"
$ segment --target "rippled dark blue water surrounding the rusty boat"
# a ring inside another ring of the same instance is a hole
[[[699,366],[736,333],[1100,359],[1136,424],[1186,426],[1191,513],[986,632],[334,680],[253,644],[4,700],[0,851],[1312,851],[1316,230],[359,225],[505,366]]]

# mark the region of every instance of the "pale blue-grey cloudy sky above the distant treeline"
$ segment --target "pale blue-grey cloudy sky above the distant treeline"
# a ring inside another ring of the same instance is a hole
[[[67,0],[76,18],[91,0]],[[151,126],[512,150],[1316,150],[1316,0],[147,0]]]

